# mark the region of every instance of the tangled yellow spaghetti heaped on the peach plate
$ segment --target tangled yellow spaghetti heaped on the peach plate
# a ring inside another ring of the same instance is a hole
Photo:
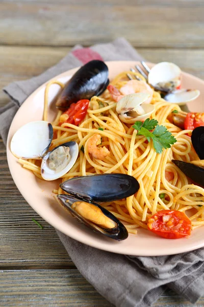
[[[138,73],[123,72],[116,76],[111,84],[119,90],[128,81],[127,73],[137,75],[144,80]],[[48,91],[52,84],[64,87],[59,81],[47,83],[44,120],[47,120]],[[177,140],[171,148],[163,149],[161,154],[156,153],[152,141],[148,143],[146,137],[137,135],[132,124],[125,124],[119,120],[116,113],[117,103],[113,101],[108,90],[99,97],[91,98],[87,115],[79,126],[69,123],[60,125],[62,112],[58,111],[52,123],[54,138],[50,149],[69,141],[77,142],[79,149],[84,148],[84,152],[80,150],[79,157],[71,170],[62,176],[62,181],[75,176],[112,172],[129,174],[138,180],[140,189],[137,194],[126,200],[103,205],[124,222],[130,233],[136,234],[138,227],[147,228],[148,218],[163,209],[188,211],[192,228],[197,228],[204,225],[204,189],[192,184],[171,162],[172,159],[185,162],[198,160],[191,139],[187,135],[191,130],[182,130],[167,119],[173,110],[181,111],[179,105],[166,102],[155,91],[151,103],[155,105],[155,112],[150,118],[157,119],[160,125],[166,126]],[[106,146],[110,151],[104,159],[94,159],[89,153],[89,139],[94,134],[99,134],[101,137],[99,147]],[[41,178],[39,160],[19,159],[19,163]],[[59,188],[54,190],[54,193],[65,192]],[[165,195],[165,198],[161,195]]]

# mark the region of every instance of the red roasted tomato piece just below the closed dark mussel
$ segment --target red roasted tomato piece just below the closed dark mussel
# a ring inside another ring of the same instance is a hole
[[[85,118],[88,106],[88,99],[82,99],[79,100],[77,103],[71,103],[70,107],[61,115],[60,124],[69,123],[78,126]],[[68,119],[64,120],[64,115],[68,115]]]

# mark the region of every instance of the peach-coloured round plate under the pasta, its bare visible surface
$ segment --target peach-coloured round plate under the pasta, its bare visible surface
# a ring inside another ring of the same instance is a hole
[[[110,80],[118,73],[134,67],[135,64],[135,61],[107,62]],[[149,63],[149,65],[151,66],[152,64]],[[56,76],[54,79],[66,82],[77,70],[78,68],[72,69]],[[188,108],[190,111],[194,112],[203,111],[204,106],[202,106],[202,100],[204,97],[204,81],[187,73],[182,73],[182,87],[200,90],[200,96],[193,103],[189,103]],[[137,235],[130,234],[126,240],[117,242],[103,235],[96,234],[75,221],[75,219],[71,217],[53,197],[52,190],[58,188],[59,180],[47,182],[36,178],[31,171],[23,168],[17,162],[17,159],[10,151],[11,138],[20,126],[31,121],[42,120],[44,91],[45,84],[40,86],[27,100],[25,100],[16,113],[9,130],[7,157],[9,168],[17,188],[24,199],[45,221],[84,244],[119,254],[141,256],[171,255],[191,251],[204,246],[203,227],[195,229],[188,239],[169,240],[156,236],[147,230],[139,229]],[[56,84],[52,85],[49,91],[49,121],[52,121],[56,115],[55,105],[52,101],[58,91],[59,86]]]

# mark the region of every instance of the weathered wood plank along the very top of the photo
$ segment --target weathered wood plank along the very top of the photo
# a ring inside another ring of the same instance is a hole
[[[204,7],[111,2],[1,2],[0,43],[72,46],[110,41],[118,34],[135,47],[201,48]],[[170,1],[168,2],[170,3]],[[157,2],[158,4],[158,2]]]

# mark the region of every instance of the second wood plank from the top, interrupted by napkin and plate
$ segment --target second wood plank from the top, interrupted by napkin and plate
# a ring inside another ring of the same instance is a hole
[[[71,48],[0,46],[0,89],[12,81],[32,78],[56,64]],[[137,48],[151,62],[172,61],[181,69],[204,78],[204,49]],[[0,106],[9,99],[1,91]]]

